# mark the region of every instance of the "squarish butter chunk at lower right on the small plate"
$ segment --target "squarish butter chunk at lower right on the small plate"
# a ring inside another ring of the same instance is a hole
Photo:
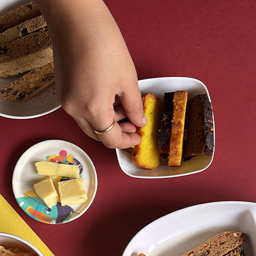
[[[60,181],[58,185],[62,206],[81,204],[88,199],[82,179]]]

